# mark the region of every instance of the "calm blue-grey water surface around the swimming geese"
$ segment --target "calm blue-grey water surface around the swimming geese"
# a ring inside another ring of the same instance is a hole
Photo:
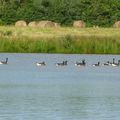
[[[0,54],[0,120],[120,120],[120,56]],[[74,63],[85,58],[86,67]],[[68,60],[67,67],[56,62]],[[36,62],[46,61],[46,67]]]

